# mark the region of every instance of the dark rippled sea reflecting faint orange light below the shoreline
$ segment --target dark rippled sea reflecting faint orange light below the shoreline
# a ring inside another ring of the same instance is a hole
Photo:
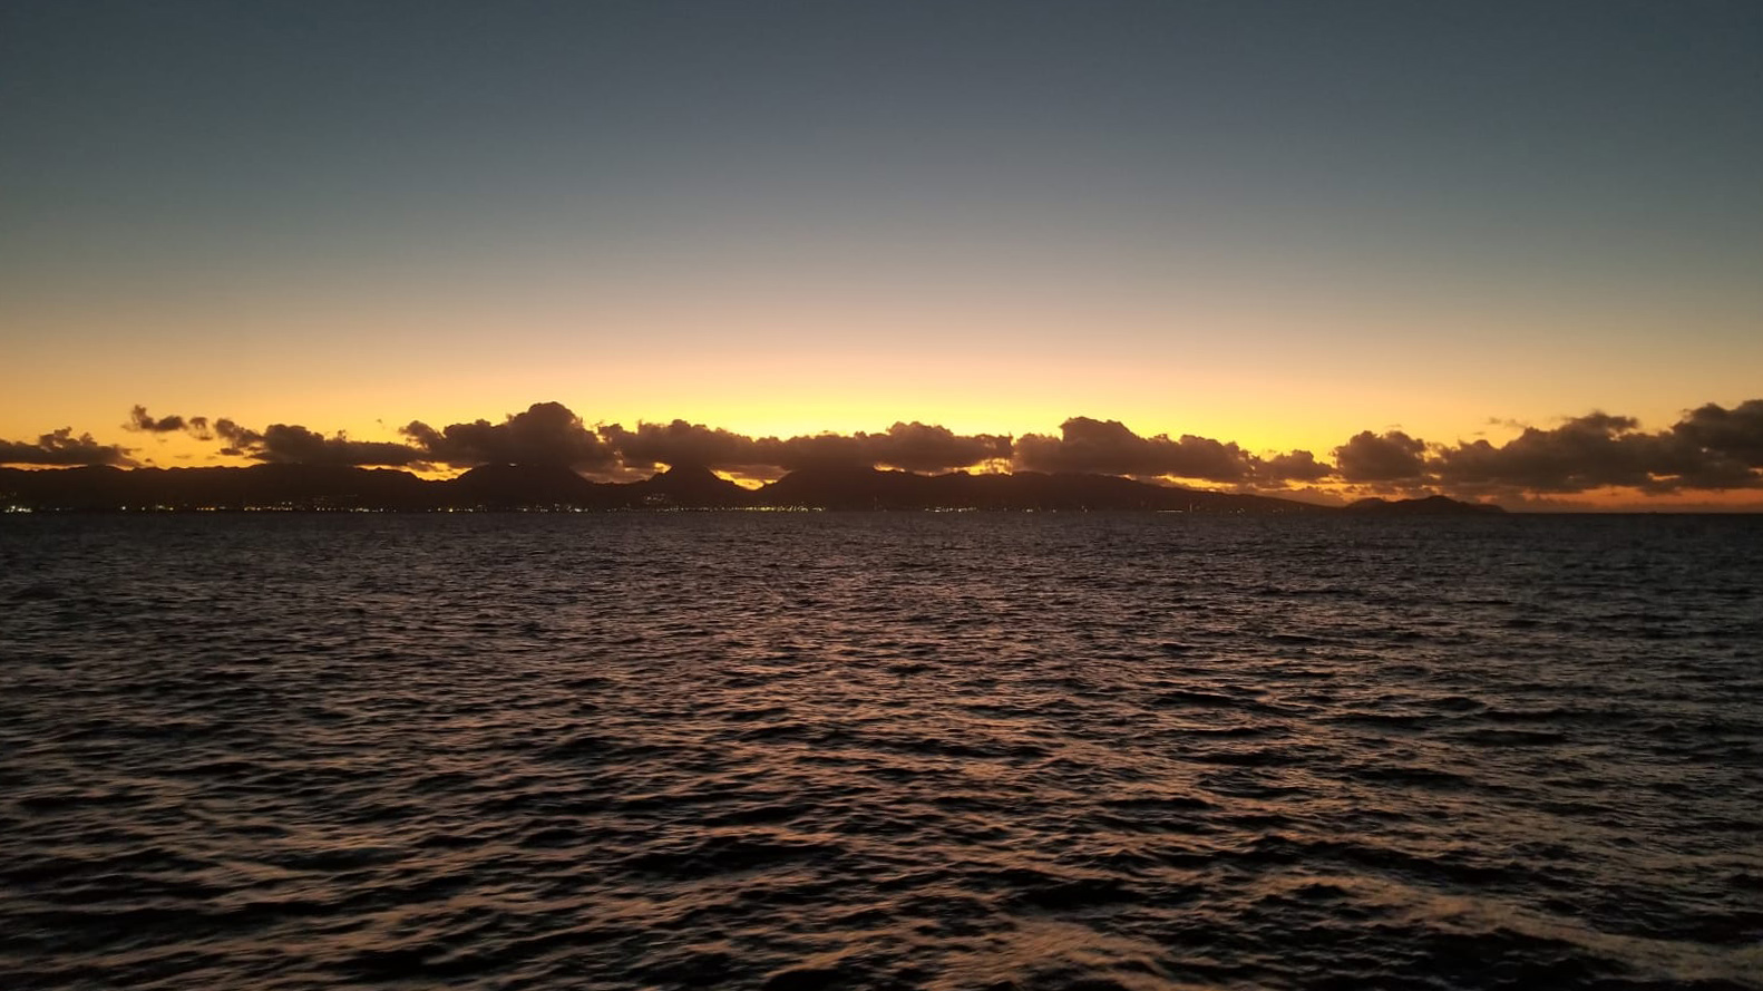
[[[1763,987],[1763,520],[0,520],[5,987]]]

